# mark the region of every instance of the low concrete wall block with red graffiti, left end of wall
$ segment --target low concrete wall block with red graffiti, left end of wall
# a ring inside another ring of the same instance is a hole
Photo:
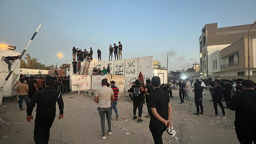
[[[80,91],[91,89],[91,75],[72,75],[71,76],[71,90],[78,91],[78,85],[80,85]]]

